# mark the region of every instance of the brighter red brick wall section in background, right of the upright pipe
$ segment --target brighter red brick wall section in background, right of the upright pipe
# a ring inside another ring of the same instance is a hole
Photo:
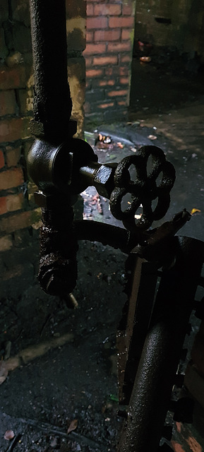
[[[88,0],[85,116],[109,121],[126,117],[134,29],[133,0]]]

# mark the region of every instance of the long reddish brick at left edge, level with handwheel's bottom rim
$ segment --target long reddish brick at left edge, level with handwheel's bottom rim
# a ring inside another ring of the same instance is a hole
[[[40,221],[41,209],[20,212],[0,219],[0,232],[11,234],[11,232],[30,227]]]

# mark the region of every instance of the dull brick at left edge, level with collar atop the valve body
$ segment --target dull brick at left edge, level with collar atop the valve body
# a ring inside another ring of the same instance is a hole
[[[0,143],[30,137],[30,118],[4,119],[0,122]]]

